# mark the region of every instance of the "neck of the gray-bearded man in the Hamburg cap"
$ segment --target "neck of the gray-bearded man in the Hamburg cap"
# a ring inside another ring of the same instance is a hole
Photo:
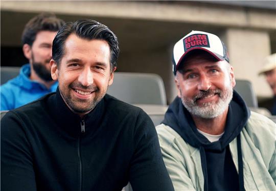
[[[208,133],[210,135],[220,135],[224,132],[228,109],[226,109],[221,115],[205,119],[199,116],[192,115],[196,128],[200,131]]]

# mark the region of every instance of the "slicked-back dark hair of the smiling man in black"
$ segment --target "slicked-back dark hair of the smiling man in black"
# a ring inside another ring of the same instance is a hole
[[[117,59],[120,52],[117,36],[105,25],[96,20],[77,20],[75,23],[66,23],[57,33],[53,41],[52,55],[53,60],[60,65],[64,54],[64,43],[70,34],[75,34],[84,39],[106,40],[110,48],[110,69],[117,67]]]

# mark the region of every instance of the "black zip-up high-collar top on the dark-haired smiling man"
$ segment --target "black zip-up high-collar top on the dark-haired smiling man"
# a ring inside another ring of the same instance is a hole
[[[57,93],[1,120],[1,190],[173,190],[141,109],[105,97],[83,120]]]

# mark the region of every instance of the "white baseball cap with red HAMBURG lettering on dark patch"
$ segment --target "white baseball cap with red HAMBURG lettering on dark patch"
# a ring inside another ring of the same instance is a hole
[[[229,62],[227,49],[220,38],[214,34],[203,31],[192,31],[174,45],[173,48],[173,73],[179,68],[181,61],[188,52],[204,50],[213,55],[218,61]]]

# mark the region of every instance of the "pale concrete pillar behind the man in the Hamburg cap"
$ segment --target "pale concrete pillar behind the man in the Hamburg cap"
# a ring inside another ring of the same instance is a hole
[[[248,29],[228,29],[226,32],[228,52],[235,77],[249,79],[259,96],[271,96],[272,92],[263,76],[258,72],[263,59],[270,54],[267,32]]]

